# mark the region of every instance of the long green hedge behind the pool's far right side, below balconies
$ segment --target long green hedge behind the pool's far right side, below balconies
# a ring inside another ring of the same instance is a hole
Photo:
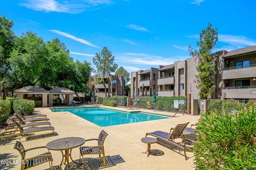
[[[186,112],[187,109],[187,97],[185,96],[173,96],[173,97],[156,97],[156,103],[153,103],[153,97],[137,97],[133,101],[137,102],[137,107],[147,108],[147,103],[151,105],[151,109],[167,111],[167,112],[177,112],[180,108],[184,109]],[[179,100],[183,104],[179,104],[179,109],[174,108],[174,100]]]

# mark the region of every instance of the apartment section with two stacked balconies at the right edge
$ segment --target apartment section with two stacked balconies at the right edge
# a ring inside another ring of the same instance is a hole
[[[222,58],[222,98],[256,99],[256,46],[233,50]]]

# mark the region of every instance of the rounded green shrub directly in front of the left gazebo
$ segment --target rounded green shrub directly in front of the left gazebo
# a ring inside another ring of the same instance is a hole
[[[33,100],[20,99],[13,101],[13,110],[14,112],[21,114],[31,115],[34,111],[35,103]]]

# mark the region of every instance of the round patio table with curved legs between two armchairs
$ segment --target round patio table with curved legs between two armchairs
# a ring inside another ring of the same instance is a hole
[[[65,158],[64,164],[67,165],[69,168],[69,157],[72,160],[72,162],[74,162],[74,160],[71,157],[72,149],[80,147],[84,143],[85,143],[84,138],[79,138],[79,137],[60,138],[47,143],[46,148],[49,150],[60,150],[62,154],[62,160],[60,165],[63,164],[63,159]],[[63,150],[65,150],[65,154],[63,154]]]

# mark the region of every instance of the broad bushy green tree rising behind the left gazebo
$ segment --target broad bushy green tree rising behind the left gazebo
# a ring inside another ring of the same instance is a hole
[[[7,59],[11,65],[11,77],[16,78],[21,86],[36,85],[37,82],[49,74],[49,53],[41,37],[30,31],[22,33],[17,38],[11,57]]]

